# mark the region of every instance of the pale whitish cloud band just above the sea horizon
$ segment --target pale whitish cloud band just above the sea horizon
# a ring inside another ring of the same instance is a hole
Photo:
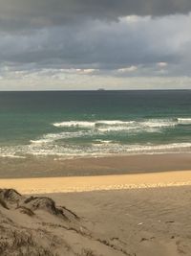
[[[112,72],[112,71],[111,71]],[[81,74],[75,69],[43,69],[31,71],[9,70],[0,80],[1,90],[77,90],[77,89],[181,89],[190,88],[191,78],[161,77],[116,77],[115,74]],[[1,76],[2,77],[2,76]],[[19,86],[18,86],[19,84]]]

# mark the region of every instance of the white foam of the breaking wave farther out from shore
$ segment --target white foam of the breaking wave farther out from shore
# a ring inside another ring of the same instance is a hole
[[[84,126],[89,126],[89,129],[79,129],[77,131],[62,131],[57,133],[44,134],[42,137],[36,140],[31,140],[31,145],[33,147],[41,147],[42,144],[51,144],[58,140],[70,139],[70,138],[83,138],[92,137],[97,135],[104,135],[110,132],[128,132],[139,133],[139,132],[160,132],[161,128],[174,127],[176,125],[175,121],[172,120],[147,120],[147,121],[119,121],[119,120],[100,120],[96,122],[78,122],[71,121],[65,122],[64,126],[68,126],[70,123],[76,126],[83,124]],[[61,124],[61,123],[60,123]],[[63,123],[62,123],[63,124]],[[94,125],[94,126],[93,126]]]

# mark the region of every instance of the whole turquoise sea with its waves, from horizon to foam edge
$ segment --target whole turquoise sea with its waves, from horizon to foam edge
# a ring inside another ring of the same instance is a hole
[[[0,92],[0,156],[191,151],[191,91]]]

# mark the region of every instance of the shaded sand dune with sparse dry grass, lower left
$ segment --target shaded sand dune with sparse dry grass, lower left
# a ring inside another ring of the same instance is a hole
[[[0,190],[2,256],[128,255],[94,236],[87,226],[87,221],[56,206],[51,198],[26,198],[14,190]]]

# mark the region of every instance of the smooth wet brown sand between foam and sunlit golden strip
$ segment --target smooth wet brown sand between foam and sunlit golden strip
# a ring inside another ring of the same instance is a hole
[[[58,159],[0,158],[0,178],[131,175],[191,170],[191,153]]]

